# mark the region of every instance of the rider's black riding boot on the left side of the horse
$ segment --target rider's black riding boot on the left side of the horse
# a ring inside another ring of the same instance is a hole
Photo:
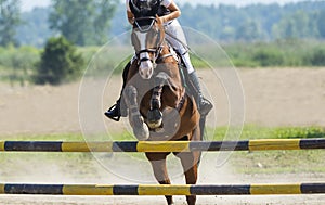
[[[123,84],[122,84],[122,89],[121,89],[119,99],[116,101],[116,104],[110,106],[104,113],[106,117],[108,117],[109,119],[116,120],[116,121],[119,121],[120,117],[127,117],[128,116],[128,108],[127,108],[125,100],[122,98],[122,93],[123,93],[123,89],[126,87],[126,81],[127,81],[127,77],[128,77],[130,66],[131,66],[131,62],[129,62],[126,65],[125,69],[123,69],[123,74],[122,74]]]

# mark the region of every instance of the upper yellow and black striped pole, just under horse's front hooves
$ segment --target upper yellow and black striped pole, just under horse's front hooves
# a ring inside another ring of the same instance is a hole
[[[244,141],[0,141],[0,152],[192,152],[325,149],[325,139],[269,139]]]

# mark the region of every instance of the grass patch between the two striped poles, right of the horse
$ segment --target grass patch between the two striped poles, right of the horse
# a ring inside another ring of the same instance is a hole
[[[231,163],[240,174],[325,172],[324,150],[237,152]]]

